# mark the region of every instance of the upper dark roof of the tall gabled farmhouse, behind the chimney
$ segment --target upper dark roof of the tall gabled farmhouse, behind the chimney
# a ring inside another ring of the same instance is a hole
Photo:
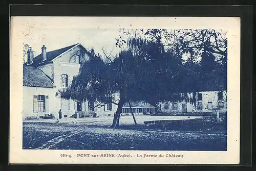
[[[59,56],[60,54],[70,50],[70,48],[78,45],[79,43],[67,46],[67,47],[63,47],[63,48],[59,48],[58,50],[54,50],[54,51],[50,51],[46,53],[47,56],[47,60],[44,62],[41,62],[42,59],[42,55],[37,55],[36,57],[33,58],[33,65],[37,65],[37,64],[45,64],[45,63],[49,63],[51,62],[51,60],[53,60],[54,58],[56,58],[57,56]],[[24,63],[24,65],[27,65],[27,62]]]

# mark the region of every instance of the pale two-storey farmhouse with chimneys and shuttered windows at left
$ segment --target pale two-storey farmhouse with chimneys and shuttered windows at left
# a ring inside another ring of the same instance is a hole
[[[44,117],[57,114],[70,117],[76,112],[97,111],[102,115],[113,115],[116,105],[106,104],[93,108],[93,101],[79,102],[63,100],[55,96],[59,89],[69,87],[73,77],[78,75],[80,64],[88,60],[86,48],[80,43],[47,52],[42,46],[41,54],[34,57],[28,52],[28,61],[23,67],[23,117]]]

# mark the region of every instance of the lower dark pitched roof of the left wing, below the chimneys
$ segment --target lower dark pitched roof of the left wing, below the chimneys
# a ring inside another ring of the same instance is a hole
[[[54,88],[51,79],[34,66],[23,66],[23,86]]]

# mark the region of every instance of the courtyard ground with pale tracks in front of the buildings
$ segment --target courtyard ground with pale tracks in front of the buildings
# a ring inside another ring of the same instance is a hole
[[[26,120],[23,149],[61,150],[199,150],[225,151],[225,130],[147,128],[144,121],[193,119],[196,116],[121,116],[120,128],[111,129],[113,117]]]

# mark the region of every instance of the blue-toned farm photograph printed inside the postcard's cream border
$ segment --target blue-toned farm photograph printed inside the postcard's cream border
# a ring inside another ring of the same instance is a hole
[[[23,42],[23,149],[227,151],[226,34],[29,33]]]

